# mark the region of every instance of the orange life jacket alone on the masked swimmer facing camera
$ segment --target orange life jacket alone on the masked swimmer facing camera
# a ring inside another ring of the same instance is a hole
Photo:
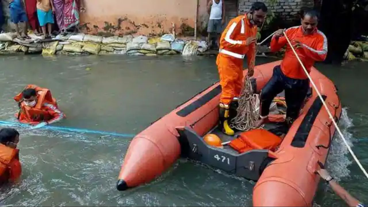
[[[25,105],[23,101],[22,92],[14,97],[14,100],[18,102],[20,111],[15,114],[17,119],[22,123],[37,124],[39,122],[50,120],[52,117],[50,114],[42,109],[45,103],[50,103],[57,107],[56,99],[51,95],[51,92],[47,88],[41,88],[37,85],[27,85],[25,89],[33,88],[36,90],[37,103],[34,107]]]

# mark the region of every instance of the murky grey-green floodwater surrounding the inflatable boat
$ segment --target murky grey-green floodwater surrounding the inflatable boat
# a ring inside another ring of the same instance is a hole
[[[215,57],[0,56],[0,65],[1,121],[15,122],[14,95],[36,84],[51,90],[67,116],[54,126],[127,135],[15,126],[23,173],[19,183],[1,187],[1,206],[252,205],[254,182],[184,159],[148,185],[116,190],[130,136],[218,81]],[[316,67],[337,85],[344,107],[339,124],[367,169],[368,63]],[[328,163],[341,185],[368,203],[368,180],[338,136]],[[321,182],[314,206],[345,204]]]

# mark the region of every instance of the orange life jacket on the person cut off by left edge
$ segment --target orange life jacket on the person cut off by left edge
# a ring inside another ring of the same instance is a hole
[[[0,182],[16,180],[21,176],[19,150],[0,144]]]

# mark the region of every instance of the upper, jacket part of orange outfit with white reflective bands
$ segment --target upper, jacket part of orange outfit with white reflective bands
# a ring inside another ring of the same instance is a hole
[[[246,45],[246,40],[256,37],[257,26],[252,25],[247,15],[232,19],[220,38],[220,54],[238,59],[243,64],[244,56],[248,56],[248,67],[254,66],[255,43]]]

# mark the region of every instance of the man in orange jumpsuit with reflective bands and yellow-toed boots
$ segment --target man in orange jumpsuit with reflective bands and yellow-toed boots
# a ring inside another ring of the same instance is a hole
[[[222,131],[230,136],[234,131],[229,122],[236,116],[237,100],[243,87],[243,59],[247,55],[248,76],[253,76],[257,26],[262,26],[266,14],[264,3],[254,3],[248,13],[229,22],[220,38],[216,60],[222,87],[219,124]]]

